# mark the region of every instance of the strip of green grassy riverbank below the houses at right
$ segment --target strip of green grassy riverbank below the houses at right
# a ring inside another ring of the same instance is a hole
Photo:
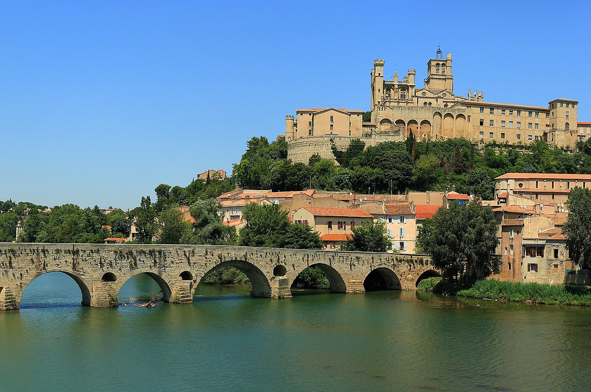
[[[512,302],[591,306],[591,289],[583,286],[564,286],[564,284],[550,285],[486,279],[476,281],[471,287],[460,287],[440,277],[433,277],[421,280],[417,290]]]

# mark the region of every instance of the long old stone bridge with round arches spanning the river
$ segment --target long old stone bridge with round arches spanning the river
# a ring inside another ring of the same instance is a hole
[[[222,267],[248,276],[252,295],[291,297],[301,271],[317,265],[338,293],[363,293],[364,283],[414,290],[418,280],[439,276],[426,255],[310,251],[225,245],[0,244],[0,310],[19,309],[22,292],[36,277],[59,271],[76,281],[82,304],[118,305],[119,289],[145,273],[160,286],[163,300],[193,302],[199,282]]]

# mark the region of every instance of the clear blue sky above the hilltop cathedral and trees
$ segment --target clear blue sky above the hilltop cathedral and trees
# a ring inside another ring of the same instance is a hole
[[[453,53],[454,92],[591,121],[585,2],[0,2],[0,200],[134,208],[240,160],[297,108],[369,110]],[[155,197],[154,197],[155,198]]]

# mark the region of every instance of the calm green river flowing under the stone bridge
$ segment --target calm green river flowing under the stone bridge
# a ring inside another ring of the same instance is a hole
[[[141,275],[119,299],[158,290]],[[0,312],[0,391],[591,390],[587,307],[207,285],[154,309],[80,297],[50,273]]]

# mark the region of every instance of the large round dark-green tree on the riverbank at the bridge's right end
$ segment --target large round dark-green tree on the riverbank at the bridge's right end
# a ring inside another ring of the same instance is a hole
[[[492,209],[474,200],[440,208],[419,230],[418,247],[431,255],[443,276],[464,284],[498,274],[501,257],[495,254],[498,224]]]

